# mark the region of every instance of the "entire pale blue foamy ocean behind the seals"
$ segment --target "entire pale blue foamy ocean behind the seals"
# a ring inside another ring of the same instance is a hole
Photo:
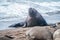
[[[41,13],[48,24],[60,22],[60,0],[0,0],[0,30],[24,21],[30,7]]]

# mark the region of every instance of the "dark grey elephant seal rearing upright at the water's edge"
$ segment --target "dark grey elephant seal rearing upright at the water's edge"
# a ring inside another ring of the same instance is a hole
[[[42,15],[34,8],[29,8],[29,15],[26,18],[24,27],[46,26],[47,23]]]

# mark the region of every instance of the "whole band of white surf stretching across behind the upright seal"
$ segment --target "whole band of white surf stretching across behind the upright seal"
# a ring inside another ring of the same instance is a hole
[[[22,3],[16,2],[4,2],[5,4],[0,5],[0,19],[5,20],[6,18],[18,18],[24,19],[28,15],[29,7],[37,9],[42,16],[49,16],[46,12],[60,11],[60,2],[32,2],[24,1]],[[7,5],[7,6],[6,6]],[[9,21],[8,20],[8,21]],[[13,19],[12,19],[13,20]]]

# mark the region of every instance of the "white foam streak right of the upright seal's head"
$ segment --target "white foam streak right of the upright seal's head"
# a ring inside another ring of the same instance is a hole
[[[60,10],[60,2],[32,2],[35,5],[39,5],[44,11]]]

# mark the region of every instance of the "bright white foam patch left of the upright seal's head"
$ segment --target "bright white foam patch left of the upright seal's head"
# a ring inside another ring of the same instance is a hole
[[[26,4],[13,3],[5,6],[0,6],[0,17],[23,17],[27,15],[29,6]]]

